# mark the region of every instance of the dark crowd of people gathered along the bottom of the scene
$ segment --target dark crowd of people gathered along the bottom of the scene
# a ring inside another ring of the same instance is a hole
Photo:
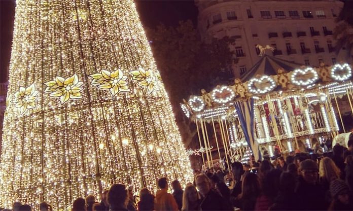
[[[231,178],[229,176],[231,175]],[[230,172],[210,168],[195,172],[183,190],[178,180],[158,180],[158,191],[147,188],[138,200],[123,184],[113,185],[96,202],[93,195],[78,198],[72,211],[105,210],[353,210],[353,139],[348,149],[336,145],[322,155],[297,153],[276,159],[231,164]],[[8,211],[11,209],[4,209]],[[13,211],[29,211],[15,202]],[[40,211],[50,211],[42,202]]]

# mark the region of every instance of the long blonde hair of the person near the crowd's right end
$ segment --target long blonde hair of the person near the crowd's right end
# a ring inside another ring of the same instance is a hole
[[[339,179],[341,171],[329,157],[325,157],[320,161],[319,164],[319,175],[320,178],[326,179],[328,182]]]

